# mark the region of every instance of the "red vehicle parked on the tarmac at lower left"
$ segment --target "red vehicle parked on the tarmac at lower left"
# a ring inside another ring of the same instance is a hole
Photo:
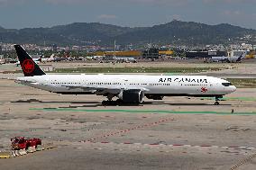
[[[29,147],[37,147],[38,145],[41,145],[41,139],[25,139],[24,137],[15,137],[14,139],[11,139],[12,141],[12,148],[14,150],[19,149],[27,149]]]

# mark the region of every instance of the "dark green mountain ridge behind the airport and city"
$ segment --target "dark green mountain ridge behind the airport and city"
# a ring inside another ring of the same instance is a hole
[[[57,45],[143,45],[157,44],[225,44],[256,37],[256,30],[229,23],[208,25],[199,22],[172,22],[151,27],[123,27],[100,22],[74,22],[46,28],[5,29],[0,26],[0,41]]]

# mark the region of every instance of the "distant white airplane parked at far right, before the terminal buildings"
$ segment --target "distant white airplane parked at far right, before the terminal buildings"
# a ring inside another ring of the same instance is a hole
[[[244,51],[240,56],[233,57],[212,57],[207,59],[207,62],[223,62],[223,63],[238,63],[241,62],[243,58],[245,58],[247,51]]]

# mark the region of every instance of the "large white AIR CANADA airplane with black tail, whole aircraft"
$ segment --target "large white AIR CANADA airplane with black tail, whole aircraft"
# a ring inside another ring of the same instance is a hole
[[[211,76],[143,75],[46,75],[20,45],[15,45],[24,77],[17,82],[57,94],[104,95],[107,104],[143,103],[144,97],[162,100],[164,96],[215,97],[215,105],[236,87]],[[112,101],[114,97],[118,99]]]

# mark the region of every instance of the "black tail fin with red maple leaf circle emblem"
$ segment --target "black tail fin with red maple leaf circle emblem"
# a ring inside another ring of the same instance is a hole
[[[21,63],[21,67],[23,68],[24,76],[46,75],[22,46],[14,45],[14,48]]]

